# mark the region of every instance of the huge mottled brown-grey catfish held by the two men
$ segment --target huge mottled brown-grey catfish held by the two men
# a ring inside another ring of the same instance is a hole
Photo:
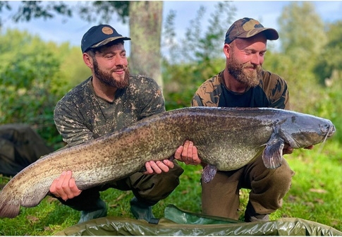
[[[202,161],[214,167],[205,178],[210,181],[216,169],[239,169],[264,147],[268,150],[265,166],[275,168],[280,165],[274,155],[279,153],[281,140],[293,148],[307,147],[323,142],[334,131],[327,119],[282,109],[187,107],[166,111],[53,152],[26,167],[1,191],[0,217],[13,218],[20,206],[38,205],[62,171],[73,171],[76,185],[85,190],[129,176],[149,160],[168,159],[185,140],[192,140]]]

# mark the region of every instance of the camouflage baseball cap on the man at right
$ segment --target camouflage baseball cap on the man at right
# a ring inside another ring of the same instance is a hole
[[[242,18],[236,20],[228,29],[224,43],[230,44],[236,38],[249,38],[260,32],[264,32],[266,39],[274,40],[279,38],[278,32],[273,28],[264,28],[259,21],[252,18]]]

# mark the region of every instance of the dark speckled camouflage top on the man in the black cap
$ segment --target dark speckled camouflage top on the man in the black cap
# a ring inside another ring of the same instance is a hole
[[[130,76],[114,102],[98,97],[92,77],[68,92],[54,109],[54,122],[68,147],[114,132],[165,111],[161,89],[152,78]]]

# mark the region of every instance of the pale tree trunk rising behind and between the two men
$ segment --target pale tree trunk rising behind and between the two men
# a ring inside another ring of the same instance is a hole
[[[130,72],[146,75],[163,86],[161,78],[161,23],[163,1],[131,1]]]

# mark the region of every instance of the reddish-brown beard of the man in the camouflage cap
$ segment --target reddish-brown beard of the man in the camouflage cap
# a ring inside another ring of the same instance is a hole
[[[256,87],[259,85],[259,81],[262,78],[262,66],[257,65],[256,70],[252,72],[245,72],[245,68],[255,68],[250,63],[238,63],[234,57],[231,57],[231,61],[227,64],[228,73],[239,82],[249,87]]]

